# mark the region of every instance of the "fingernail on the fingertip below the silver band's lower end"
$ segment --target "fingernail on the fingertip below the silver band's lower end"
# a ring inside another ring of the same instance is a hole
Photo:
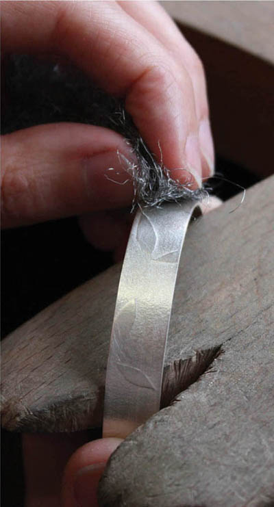
[[[97,486],[105,462],[96,463],[80,469],[74,482],[75,507],[91,507],[97,506]]]

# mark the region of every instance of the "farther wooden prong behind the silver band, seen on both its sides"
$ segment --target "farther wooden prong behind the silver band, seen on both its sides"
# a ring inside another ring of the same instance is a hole
[[[252,187],[234,213],[229,211],[240,196],[190,226],[165,361],[166,366],[172,365],[175,359],[194,356],[195,350],[238,343],[243,337],[253,354],[249,373],[253,378],[257,374],[262,383],[262,403],[267,400],[265,386],[272,382],[264,360],[273,354],[273,345],[266,343],[273,337],[273,193],[271,177]],[[116,265],[75,289],[3,341],[1,412],[5,428],[71,431],[101,425],[120,269]],[[265,341],[266,358],[260,355],[261,341]],[[230,356],[232,363],[241,359],[241,352],[235,358],[233,352],[229,354],[225,357]],[[253,372],[255,367],[258,373]],[[235,368],[240,378],[237,362]],[[210,378],[212,374],[206,377],[208,382]],[[252,385],[250,389],[252,394]],[[267,406],[262,416],[268,417],[266,414]]]

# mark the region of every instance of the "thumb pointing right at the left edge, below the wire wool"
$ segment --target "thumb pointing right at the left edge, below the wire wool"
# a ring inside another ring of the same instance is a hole
[[[135,162],[121,135],[91,125],[40,125],[3,136],[2,226],[130,205],[120,153]]]

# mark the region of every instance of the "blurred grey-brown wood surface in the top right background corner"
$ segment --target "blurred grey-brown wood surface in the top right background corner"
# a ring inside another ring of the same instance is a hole
[[[274,3],[271,1],[161,1],[181,23],[274,63]]]

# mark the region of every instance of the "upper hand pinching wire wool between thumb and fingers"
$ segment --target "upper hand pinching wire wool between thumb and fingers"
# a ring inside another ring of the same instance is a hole
[[[174,177],[186,181],[192,172],[200,184],[212,174],[203,67],[158,3],[5,1],[2,34],[3,51],[61,53],[102,88],[125,96],[142,137],[157,157],[160,142]],[[130,205],[131,183],[105,178],[110,166],[119,169],[117,148],[132,159],[118,134],[73,123],[5,135],[3,227]],[[110,220],[103,218],[106,226]]]

